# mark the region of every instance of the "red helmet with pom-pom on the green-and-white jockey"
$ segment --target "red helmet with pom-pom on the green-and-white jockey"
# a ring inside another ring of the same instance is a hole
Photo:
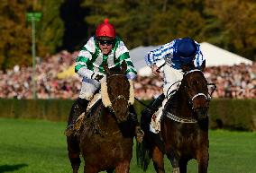
[[[114,26],[105,19],[103,23],[100,23],[96,28],[96,38],[98,37],[109,37],[115,38]]]

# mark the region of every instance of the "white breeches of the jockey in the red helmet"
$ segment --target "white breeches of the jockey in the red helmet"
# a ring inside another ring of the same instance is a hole
[[[94,93],[100,87],[100,82],[97,82],[94,79],[89,79],[84,77],[82,80],[82,87],[79,94],[80,99],[91,100],[94,96]]]

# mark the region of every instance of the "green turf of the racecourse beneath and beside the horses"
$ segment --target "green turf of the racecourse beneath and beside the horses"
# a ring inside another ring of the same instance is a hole
[[[0,118],[0,173],[68,173],[66,123]],[[255,173],[256,133],[210,131],[209,173]],[[166,172],[171,172],[169,160]],[[83,172],[81,165],[79,173]],[[132,173],[142,172],[135,160]],[[147,172],[155,172],[152,164]],[[188,173],[197,173],[191,160]]]

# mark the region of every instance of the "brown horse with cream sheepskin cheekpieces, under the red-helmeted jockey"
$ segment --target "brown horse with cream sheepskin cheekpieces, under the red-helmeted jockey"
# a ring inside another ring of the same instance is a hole
[[[128,173],[133,157],[134,123],[129,120],[133,104],[133,83],[127,80],[126,63],[122,69],[108,69],[102,82],[102,101],[90,110],[76,137],[68,137],[69,160],[78,173],[79,155],[85,160],[85,173]]]

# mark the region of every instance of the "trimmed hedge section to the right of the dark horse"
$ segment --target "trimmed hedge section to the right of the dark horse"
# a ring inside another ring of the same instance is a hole
[[[215,99],[210,104],[212,128],[256,131],[256,99]]]

